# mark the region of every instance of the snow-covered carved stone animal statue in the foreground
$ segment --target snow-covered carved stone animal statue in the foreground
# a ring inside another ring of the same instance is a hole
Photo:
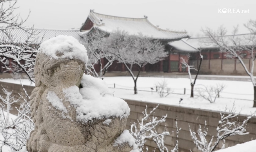
[[[103,80],[85,75],[85,47],[70,36],[43,42],[31,95],[29,152],[136,152],[124,130],[130,109]]]

